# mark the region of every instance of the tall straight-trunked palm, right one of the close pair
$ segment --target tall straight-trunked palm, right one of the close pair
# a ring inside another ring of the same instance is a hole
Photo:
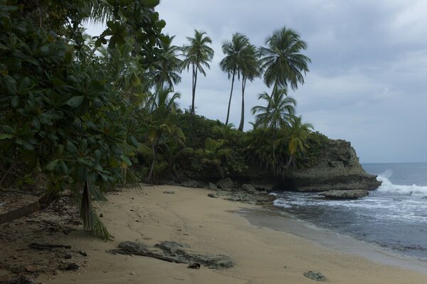
[[[241,75],[242,75],[242,109],[241,109],[241,122],[238,130],[243,131],[245,124],[245,89],[246,81],[253,81],[256,77],[261,75],[260,63],[258,60],[258,53],[255,45],[248,44],[243,48],[241,53]]]

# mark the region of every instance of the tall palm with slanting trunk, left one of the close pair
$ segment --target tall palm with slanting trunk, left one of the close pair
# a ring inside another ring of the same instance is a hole
[[[241,65],[243,65],[242,61],[242,52],[249,45],[249,39],[246,35],[242,35],[241,33],[234,33],[231,41],[226,40],[222,45],[223,53],[226,55],[219,65],[223,72],[226,72],[228,75],[228,79],[231,77],[231,91],[230,91],[230,99],[228,99],[228,109],[227,109],[227,119],[226,125],[228,124],[228,118],[230,116],[230,106],[231,106],[231,97],[233,96],[233,86],[234,86],[234,78],[237,74],[238,79],[240,80],[241,75]]]

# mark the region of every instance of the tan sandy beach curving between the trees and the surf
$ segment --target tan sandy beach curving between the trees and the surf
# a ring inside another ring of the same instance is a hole
[[[42,273],[36,282],[315,283],[303,273],[320,271],[327,283],[427,283],[424,273],[327,249],[285,231],[253,226],[236,212],[256,206],[210,198],[209,192],[143,186],[142,190],[126,189],[110,194],[109,203],[100,207],[98,213],[102,213],[114,241],[100,241],[81,229],[56,236],[57,243],[70,244],[88,253],[85,266],[75,272]],[[186,264],[105,252],[122,241],[148,245],[177,241],[189,244],[196,251],[231,256],[236,265],[223,270],[206,267],[195,270],[186,268]],[[4,240],[1,245],[4,249],[11,246]]]

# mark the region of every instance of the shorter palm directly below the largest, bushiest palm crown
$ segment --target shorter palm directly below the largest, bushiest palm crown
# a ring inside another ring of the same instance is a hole
[[[292,97],[288,97],[285,88],[273,88],[270,95],[267,92],[259,94],[258,100],[263,99],[267,106],[255,106],[252,114],[255,116],[255,124],[263,126],[273,131],[273,161],[275,160],[275,140],[279,129],[289,126],[288,121],[295,114],[297,102]]]

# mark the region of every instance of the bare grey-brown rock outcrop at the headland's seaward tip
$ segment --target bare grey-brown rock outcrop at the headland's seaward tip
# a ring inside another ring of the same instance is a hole
[[[330,140],[319,163],[311,168],[294,170],[285,175],[283,190],[319,192],[326,190],[374,190],[381,185],[375,175],[369,175],[359,163],[349,142]]]

